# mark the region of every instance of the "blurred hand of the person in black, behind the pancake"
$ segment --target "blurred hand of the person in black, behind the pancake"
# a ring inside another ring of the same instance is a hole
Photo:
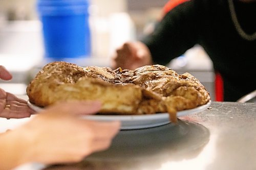
[[[144,65],[151,65],[150,50],[142,42],[126,42],[116,50],[113,57],[113,68],[134,70]]]

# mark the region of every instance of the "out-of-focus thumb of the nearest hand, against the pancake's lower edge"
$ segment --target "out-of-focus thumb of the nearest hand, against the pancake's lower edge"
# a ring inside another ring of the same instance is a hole
[[[43,112],[54,112],[54,114],[94,114],[97,113],[101,108],[99,101],[70,101],[60,102],[53,106],[48,107]]]

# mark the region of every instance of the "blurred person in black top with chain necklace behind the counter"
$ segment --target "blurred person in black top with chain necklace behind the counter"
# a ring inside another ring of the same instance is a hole
[[[255,90],[256,0],[171,0],[155,30],[116,50],[113,68],[166,65],[200,44],[216,72],[217,101]]]

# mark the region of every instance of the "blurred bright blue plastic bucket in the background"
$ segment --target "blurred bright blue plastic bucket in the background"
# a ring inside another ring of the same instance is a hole
[[[89,2],[86,0],[38,0],[45,57],[54,60],[91,55]]]

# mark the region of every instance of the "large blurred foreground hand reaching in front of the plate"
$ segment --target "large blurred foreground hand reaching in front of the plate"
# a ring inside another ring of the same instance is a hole
[[[107,149],[119,131],[120,122],[96,122],[80,117],[96,113],[100,107],[99,102],[59,103],[18,129],[0,135],[0,169],[27,162],[78,162],[93,152]]]

